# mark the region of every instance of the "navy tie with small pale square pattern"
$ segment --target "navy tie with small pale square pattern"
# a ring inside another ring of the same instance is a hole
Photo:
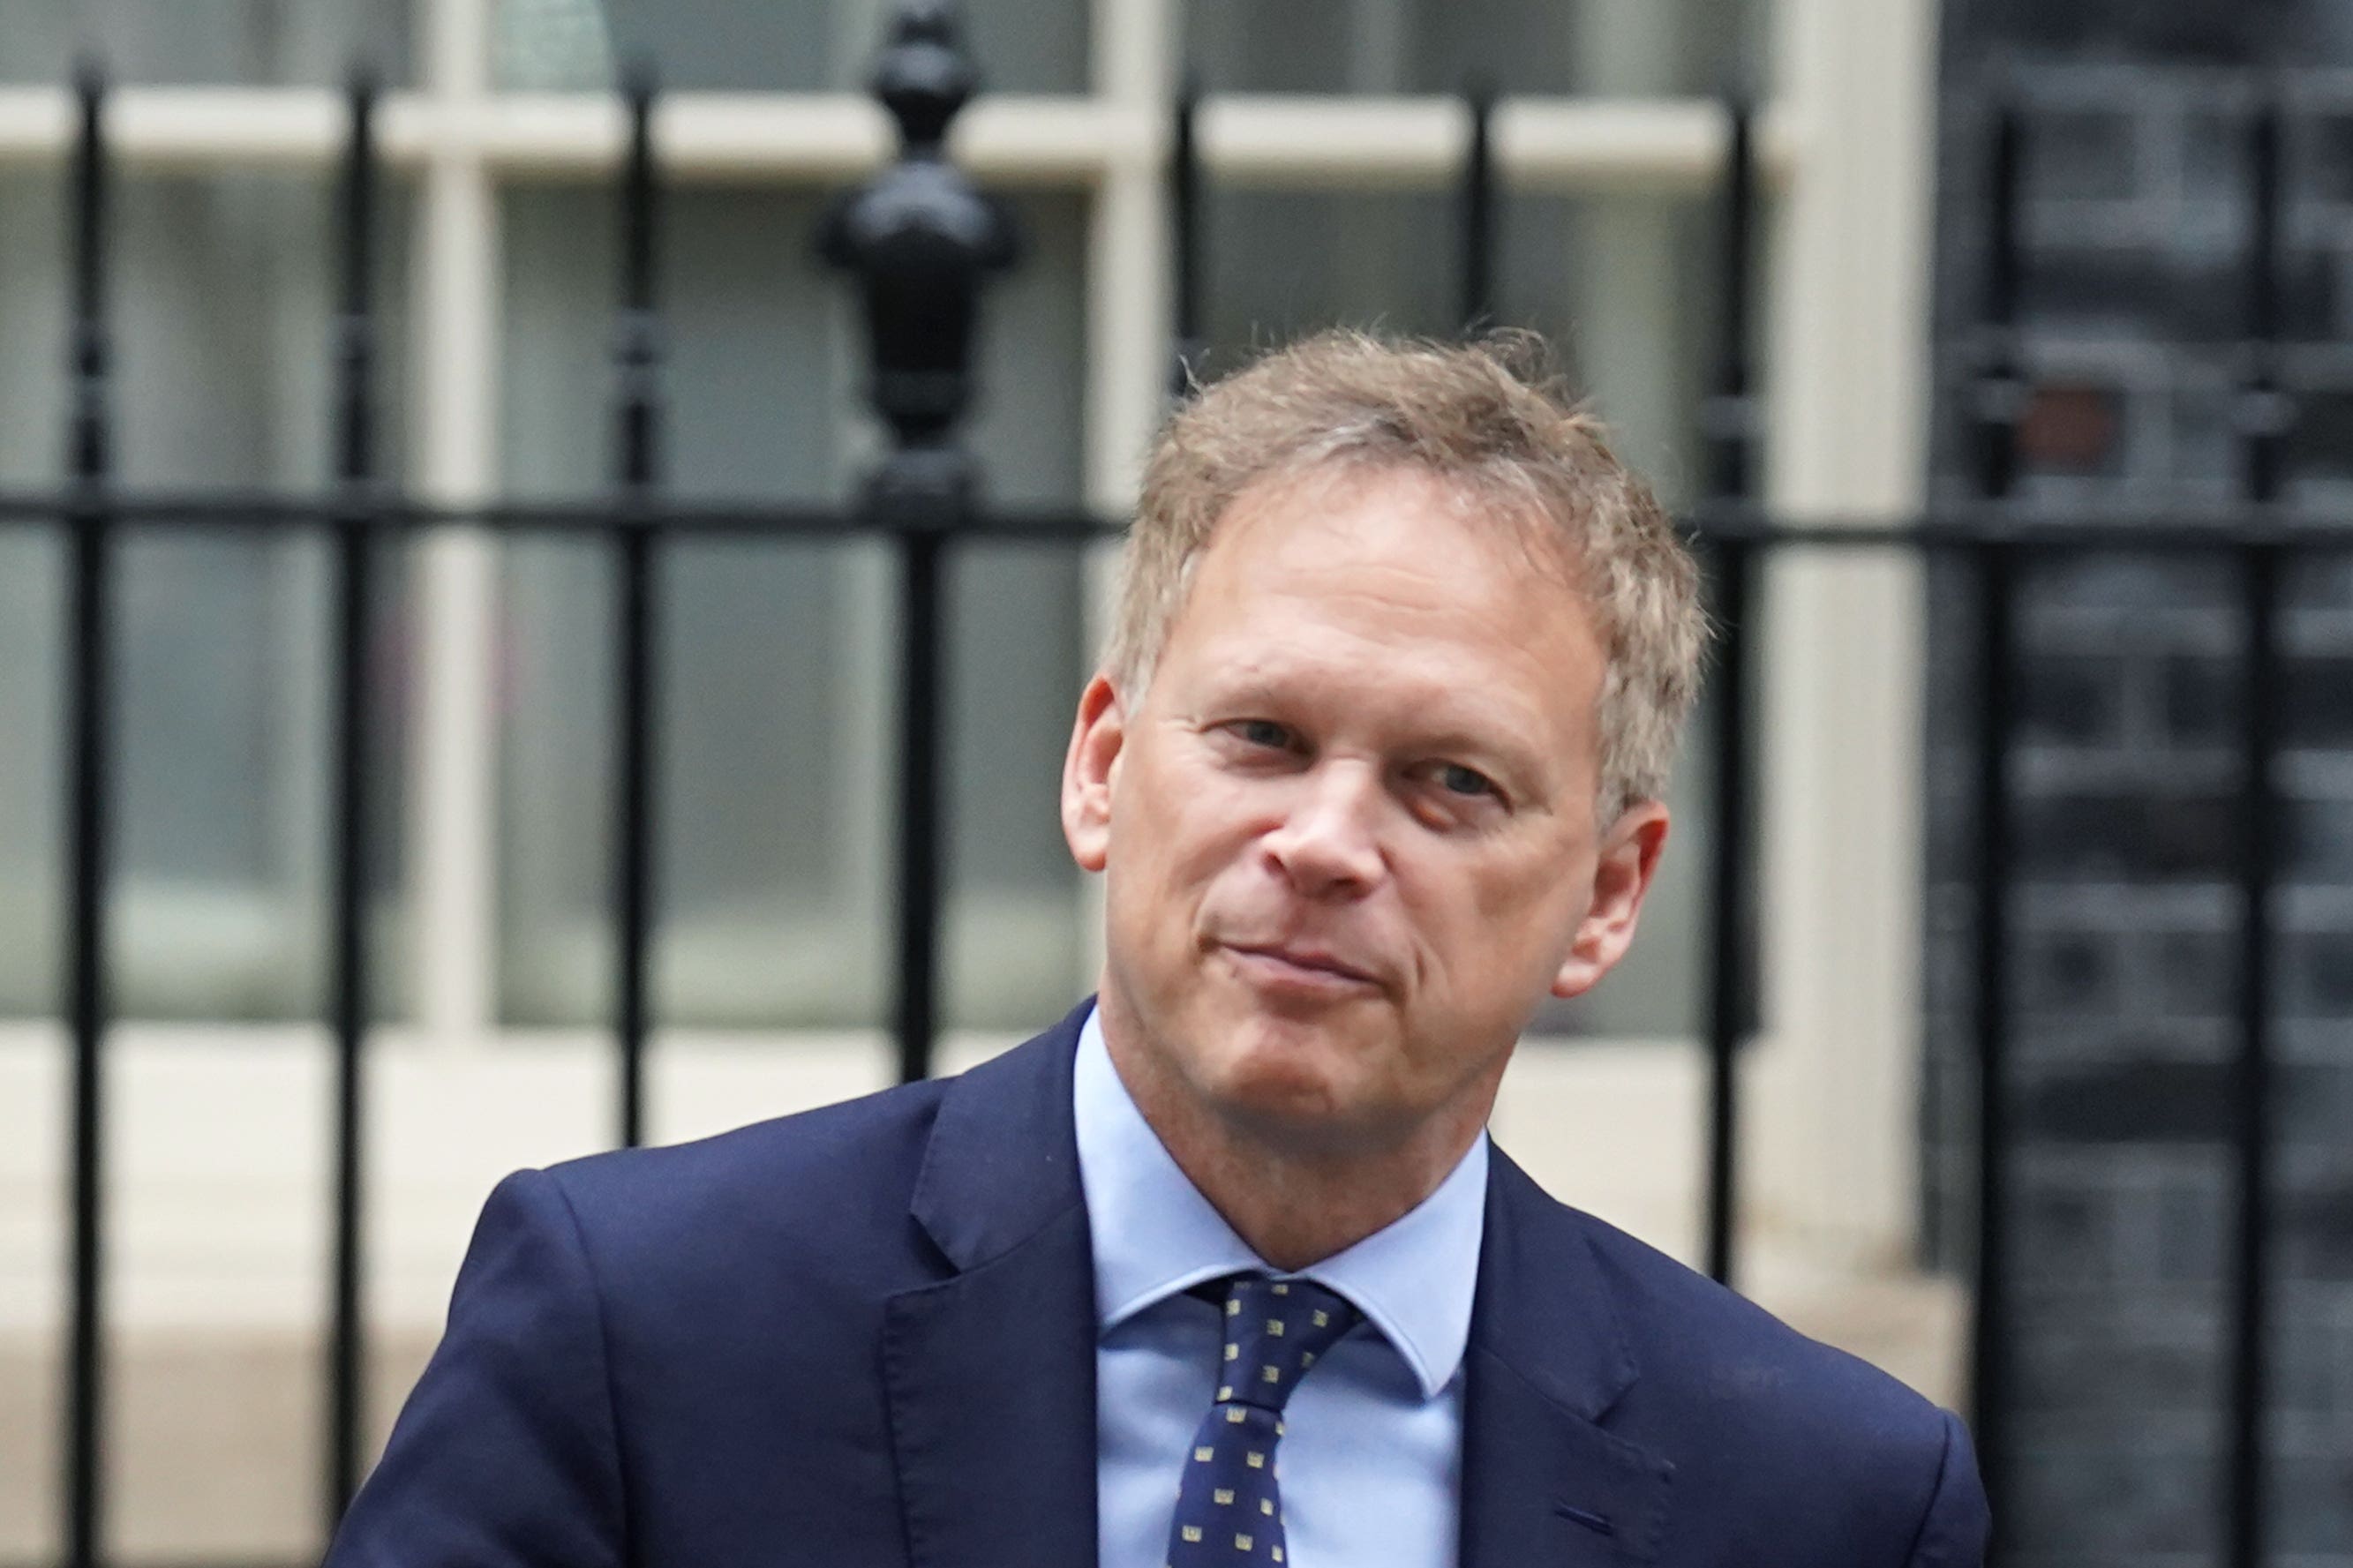
[[[1306,1279],[1238,1274],[1226,1291],[1226,1347],[1217,1363],[1217,1403],[1193,1434],[1169,1568],[1282,1561],[1282,1493],[1275,1441],[1282,1406],[1315,1356],[1355,1328],[1360,1312]]]

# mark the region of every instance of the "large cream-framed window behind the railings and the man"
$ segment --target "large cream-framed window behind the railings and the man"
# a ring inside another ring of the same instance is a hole
[[[12,21],[28,26],[0,63],[16,82],[0,82],[0,484],[59,477],[71,146],[59,82],[78,45],[96,42],[125,82],[111,108],[125,477],[296,489],[325,477],[334,87],[367,54],[388,82],[386,473],[459,510],[600,489],[621,146],[605,82],[649,54],[668,87],[656,127],[666,484],[842,498],[875,433],[856,407],[864,346],[847,296],[809,240],[821,205],[887,155],[880,113],[849,92],[887,14],[885,0],[19,7]],[[986,317],[969,440],[991,496],[1106,515],[1129,503],[1167,393],[1162,155],[1191,63],[1212,92],[1200,122],[1212,353],[1334,315],[1457,327],[1459,92],[1485,73],[1506,94],[1501,315],[1553,334],[1628,456],[1671,501],[1692,498],[1722,158],[1708,94],[1741,63],[1767,94],[1769,498],[1845,517],[1911,503],[1925,2],[1297,0],[1285,28],[1266,14],[1240,0],[969,7],[993,92],[958,127],[958,155],[1016,205],[1031,240]],[[386,1114],[421,1143],[398,1126],[384,1143],[384,1201],[419,1204],[388,1222],[416,1251],[386,1288],[431,1312],[445,1279],[428,1239],[461,1232],[478,1204],[466,1173],[609,1131],[612,595],[605,552],[584,541],[459,529],[388,557],[374,804],[376,990],[393,1027],[376,1060],[386,1105],[402,1107]],[[1101,632],[1104,564],[1101,550],[1066,548],[955,555],[946,1065],[1016,1037],[1094,973],[1089,896],[1059,849],[1049,766]],[[61,969],[59,574],[52,534],[0,529],[0,722],[21,738],[0,769],[0,1009],[16,1018],[54,1016]],[[673,541],[661,574],[652,1103],[654,1135],[673,1138],[887,1079],[882,698],[896,639],[894,574],[871,543]],[[1791,1211],[1845,1206],[1878,1234],[1908,1222],[1889,1173],[1906,1164],[1913,1103],[1889,1041],[1915,1027],[1901,978],[1918,926],[1904,642],[1915,621],[1899,569],[1795,562],[1772,576],[1760,964],[1765,1032],[1786,1046],[1758,1060],[1786,1065],[1774,1072],[1793,1084],[1833,1074],[1840,1098],[1779,1103],[1824,1121],[1814,1147],[1854,1157],[1793,1161],[1765,1187]],[[153,527],[125,545],[122,722],[136,733],[113,940],[120,997],[155,1020],[139,1030],[155,1048],[207,1030],[221,1044],[313,1039],[320,590],[315,541]],[[1704,764],[1697,750],[1685,759],[1671,879],[1635,966],[1591,1004],[1548,1013],[1546,1030],[1689,1037]],[[271,1034],[268,1020],[292,1027]],[[238,1027],[221,1034],[224,1023]],[[1661,1072],[1689,1060],[1638,1053]],[[1574,1074],[1560,1077],[1574,1051],[1522,1056],[1574,1100]],[[287,1072],[287,1105],[304,1103],[306,1079]],[[466,1143],[459,1159],[428,1157],[440,1124],[414,1117],[492,1081],[475,1074],[555,1077],[511,1114],[449,1133]],[[1529,1091],[1520,1105],[1548,1117],[1555,1103]],[[1828,1121],[1889,1131],[1838,1143]]]

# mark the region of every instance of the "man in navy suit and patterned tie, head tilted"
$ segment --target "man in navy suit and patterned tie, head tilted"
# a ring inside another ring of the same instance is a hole
[[[1064,764],[1099,997],[501,1182],[332,1563],[1977,1563],[1960,1422],[1485,1138],[1633,940],[1699,649],[1506,353],[1205,390]]]

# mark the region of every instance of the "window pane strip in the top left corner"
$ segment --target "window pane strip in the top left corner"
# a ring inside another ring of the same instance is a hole
[[[414,0],[7,0],[0,82],[334,85],[358,61],[409,80]]]

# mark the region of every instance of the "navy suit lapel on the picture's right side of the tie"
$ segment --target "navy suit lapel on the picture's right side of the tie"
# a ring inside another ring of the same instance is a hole
[[[1461,1568],[1659,1559],[1673,1465],[1600,1425],[1638,1375],[1600,1260],[1501,1152],[1464,1371]]]

